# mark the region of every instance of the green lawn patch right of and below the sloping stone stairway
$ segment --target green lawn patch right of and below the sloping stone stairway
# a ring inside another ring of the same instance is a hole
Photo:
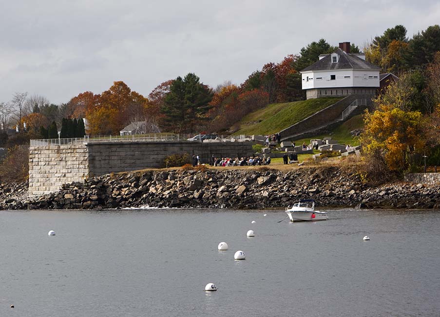
[[[359,145],[359,137],[352,137],[350,131],[356,129],[362,129],[362,128],[363,128],[363,115],[358,115],[348,119],[340,126],[336,127],[331,135],[320,134],[306,139],[295,140],[295,143],[303,144],[303,142],[306,142],[306,144],[308,144],[311,139],[323,139],[325,137],[331,137],[332,139],[339,141],[339,144]]]

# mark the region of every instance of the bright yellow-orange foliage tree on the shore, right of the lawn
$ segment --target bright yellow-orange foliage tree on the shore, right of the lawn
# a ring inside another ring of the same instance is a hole
[[[403,171],[413,154],[423,153],[423,117],[419,111],[404,111],[395,105],[381,104],[365,113],[361,136],[364,153],[386,164],[391,171]]]

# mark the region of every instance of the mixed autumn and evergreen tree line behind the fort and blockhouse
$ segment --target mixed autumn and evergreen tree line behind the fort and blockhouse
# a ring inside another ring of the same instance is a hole
[[[429,26],[412,38],[406,33],[404,26],[396,25],[364,44],[362,50],[366,59],[380,66],[383,72],[393,72],[397,76],[409,74],[408,80],[417,91],[412,102],[423,113],[425,108],[435,106],[434,99],[428,96],[435,91],[428,89],[434,81],[428,81],[426,74],[435,53],[440,51],[440,27]],[[77,124],[78,119],[87,119],[85,133],[89,135],[119,134],[128,124],[139,121],[146,122],[147,133],[228,131],[249,112],[269,103],[305,99],[300,71],[317,61],[319,55],[331,53],[336,48],[325,39],[313,41],[297,54],[266,63],[240,84],[227,80],[210,87],[196,74],[189,73],[162,82],[144,97],[123,81],[115,81],[100,94],[85,91],[60,105],[42,96],[16,93],[10,101],[0,103],[0,141],[7,139],[8,129],[18,129],[27,139],[54,137],[53,123],[62,127],[63,119],[67,118],[76,118]],[[351,51],[357,53],[361,49],[351,44]],[[51,127],[52,134],[49,133]],[[61,135],[79,135],[77,132],[65,133],[70,130],[61,129]]]

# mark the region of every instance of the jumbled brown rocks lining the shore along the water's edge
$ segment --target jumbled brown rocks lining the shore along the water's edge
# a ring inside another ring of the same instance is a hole
[[[257,209],[287,207],[300,198],[314,198],[320,207],[440,208],[440,185],[398,182],[369,187],[356,171],[332,166],[290,171],[260,168],[133,172],[66,184],[57,193],[39,198],[22,196],[2,196],[1,208]]]

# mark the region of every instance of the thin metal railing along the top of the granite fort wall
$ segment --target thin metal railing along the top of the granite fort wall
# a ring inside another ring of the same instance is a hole
[[[87,143],[102,143],[102,142],[170,142],[170,141],[188,141],[193,138],[191,134],[165,134],[157,133],[150,135],[125,135],[125,136],[84,136],[84,138],[68,138],[68,139],[34,139],[31,140],[31,146],[45,146],[45,145],[72,145],[72,144],[87,144]],[[253,140],[250,136],[219,136],[223,142],[231,141],[234,139],[239,142]],[[201,142],[202,140],[196,139],[194,142]]]

